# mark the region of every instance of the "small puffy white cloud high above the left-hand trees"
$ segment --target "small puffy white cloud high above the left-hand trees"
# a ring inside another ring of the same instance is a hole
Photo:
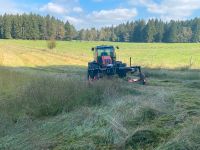
[[[44,5],[43,7],[40,8],[40,10],[57,14],[64,14],[68,12],[62,6],[52,2],[49,2],[48,4]]]

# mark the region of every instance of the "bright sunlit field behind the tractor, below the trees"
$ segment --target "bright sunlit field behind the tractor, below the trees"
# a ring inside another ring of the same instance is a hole
[[[1,66],[86,66],[92,60],[91,47],[118,45],[117,58],[126,63],[132,57],[133,64],[148,68],[200,68],[199,44],[145,44],[58,41],[54,50],[46,41],[0,40]]]

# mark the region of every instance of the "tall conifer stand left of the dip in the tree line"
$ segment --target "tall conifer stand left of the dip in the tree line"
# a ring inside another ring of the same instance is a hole
[[[35,14],[0,16],[0,39],[71,40],[76,29],[68,21]]]

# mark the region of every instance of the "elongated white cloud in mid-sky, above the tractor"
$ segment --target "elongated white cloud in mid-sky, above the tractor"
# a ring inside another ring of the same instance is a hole
[[[118,8],[112,10],[93,11],[88,18],[97,22],[123,21],[134,18],[137,15],[136,9]]]

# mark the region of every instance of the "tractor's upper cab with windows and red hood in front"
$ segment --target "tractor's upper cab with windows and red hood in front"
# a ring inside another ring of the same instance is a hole
[[[94,51],[94,61],[101,66],[112,65],[116,61],[115,48],[113,46],[97,46]]]

